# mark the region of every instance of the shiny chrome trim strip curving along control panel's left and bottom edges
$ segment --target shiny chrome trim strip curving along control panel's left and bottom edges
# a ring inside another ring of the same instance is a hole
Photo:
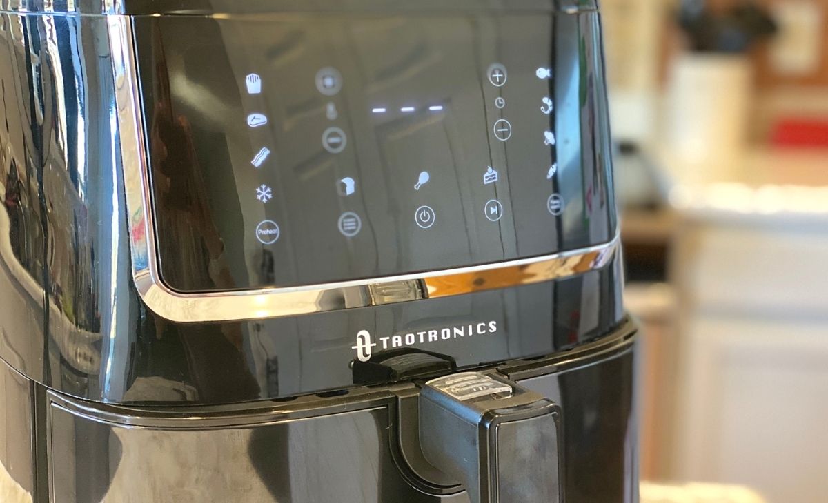
[[[289,288],[198,294],[171,290],[161,280],[156,259],[132,27],[126,16],[108,17],[108,26],[129,215],[132,279],[147,307],[163,318],[181,323],[267,319],[531,285],[606,266],[619,246],[616,235],[610,242],[595,247],[445,271]]]

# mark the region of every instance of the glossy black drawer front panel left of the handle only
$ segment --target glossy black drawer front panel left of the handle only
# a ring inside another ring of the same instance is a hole
[[[118,428],[53,407],[55,502],[436,501],[400,476],[385,408],[188,433]]]

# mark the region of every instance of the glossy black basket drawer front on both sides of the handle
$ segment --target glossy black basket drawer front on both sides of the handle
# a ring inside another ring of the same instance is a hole
[[[637,501],[630,343],[597,361],[600,347],[535,366],[540,375],[522,381],[561,400],[567,502]],[[387,431],[395,393],[409,387],[178,413],[88,409],[51,395],[54,501],[469,501],[416,491],[394,461]]]

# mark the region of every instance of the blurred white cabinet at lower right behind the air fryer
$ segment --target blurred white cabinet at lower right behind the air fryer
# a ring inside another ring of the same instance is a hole
[[[828,501],[828,223],[703,219],[675,244],[669,472]]]

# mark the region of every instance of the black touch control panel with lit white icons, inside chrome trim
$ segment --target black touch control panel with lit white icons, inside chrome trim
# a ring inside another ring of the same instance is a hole
[[[139,17],[135,33],[173,289],[434,271],[613,237],[592,16]]]

